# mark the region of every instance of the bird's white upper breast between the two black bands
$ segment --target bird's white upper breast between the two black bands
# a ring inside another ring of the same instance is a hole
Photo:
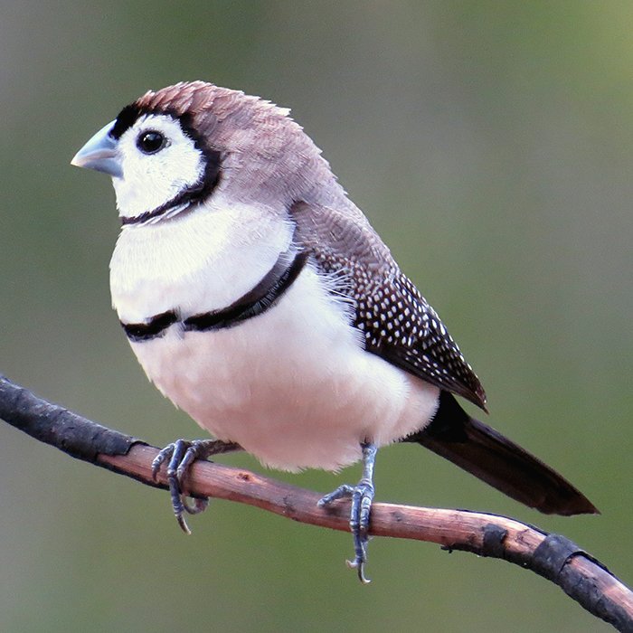
[[[110,260],[113,305],[128,323],[226,307],[269,271],[292,232],[271,209],[219,192],[182,217],[124,227]]]

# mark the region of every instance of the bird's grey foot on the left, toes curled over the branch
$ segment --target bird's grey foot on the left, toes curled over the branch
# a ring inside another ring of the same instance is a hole
[[[184,476],[196,459],[210,458],[212,455],[241,450],[235,442],[223,442],[221,439],[176,439],[165,446],[152,462],[152,477],[156,480],[158,470],[167,461],[167,482],[172,496],[172,507],[176,521],[186,534],[191,530],[184,520],[184,513],[197,515],[209,503],[208,498],[194,498],[193,505],[187,503],[183,492]]]

